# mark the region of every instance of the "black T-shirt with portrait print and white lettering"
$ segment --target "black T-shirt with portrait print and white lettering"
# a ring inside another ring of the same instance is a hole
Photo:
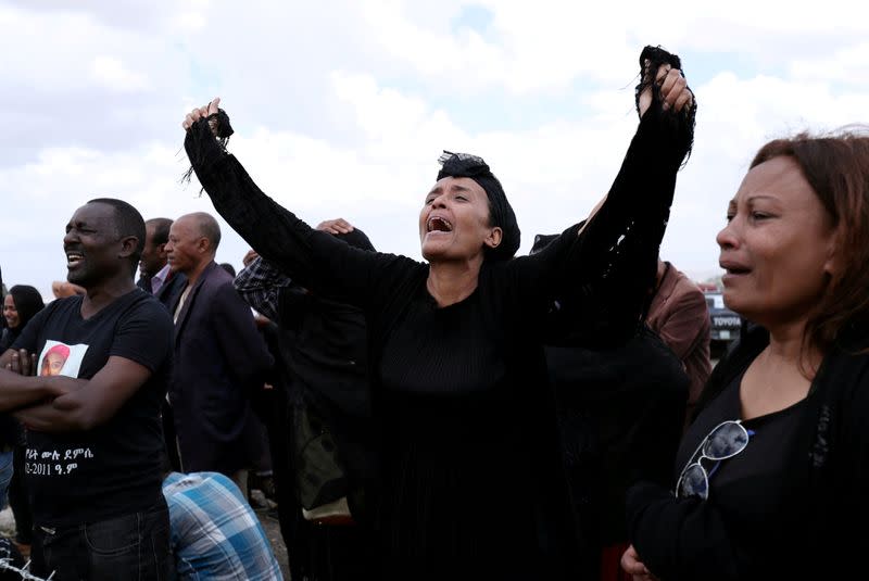
[[[81,318],[81,301],[52,302],[13,346],[39,354],[40,372],[60,368],[60,375],[90,379],[115,355],[152,375],[114,417],[92,430],[28,431],[25,472],[36,525],[68,526],[136,513],[161,494],[160,405],[172,368],[172,319],[140,289],[88,319]]]

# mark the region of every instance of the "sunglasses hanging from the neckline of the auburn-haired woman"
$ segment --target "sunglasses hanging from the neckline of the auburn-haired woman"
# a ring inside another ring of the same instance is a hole
[[[709,477],[715,473],[721,460],[732,458],[748,445],[753,430],[746,430],[740,420],[722,421],[703,439],[682,469],[676,483],[677,498],[700,496],[704,501],[709,497]],[[703,460],[714,460],[711,470],[706,471]]]

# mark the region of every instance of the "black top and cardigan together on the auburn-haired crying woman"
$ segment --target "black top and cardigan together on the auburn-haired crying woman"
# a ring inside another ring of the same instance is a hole
[[[700,441],[739,418],[739,383],[768,344],[755,328],[713,371],[669,488],[628,493],[631,541],[660,579],[845,579],[869,551],[869,332],[830,349],[802,402],[746,421],[746,449],[711,476],[707,501],[677,500],[676,478]],[[704,465],[711,466],[709,460]]]

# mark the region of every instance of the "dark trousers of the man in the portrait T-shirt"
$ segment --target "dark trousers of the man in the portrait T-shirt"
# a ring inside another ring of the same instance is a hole
[[[33,572],[52,581],[168,579],[169,517],[161,494],[142,513],[63,529],[34,528]]]

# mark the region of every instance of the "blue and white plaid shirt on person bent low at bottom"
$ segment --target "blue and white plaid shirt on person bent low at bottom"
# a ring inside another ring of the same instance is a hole
[[[227,477],[172,472],[163,495],[178,579],[282,581],[260,520]]]

